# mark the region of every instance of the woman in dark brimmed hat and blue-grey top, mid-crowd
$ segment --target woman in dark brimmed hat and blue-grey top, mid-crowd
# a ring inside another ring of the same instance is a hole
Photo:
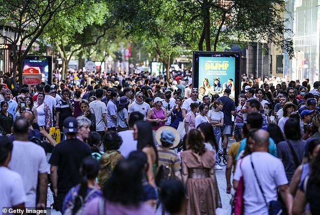
[[[129,99],[126,96],[122,96],[118,99],[118,114],[117,114],[117,131],[126,131],[129,130],[128,124],[128,104]]]

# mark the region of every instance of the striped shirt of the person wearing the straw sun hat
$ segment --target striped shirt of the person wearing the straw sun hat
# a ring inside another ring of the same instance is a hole
[[[158,166],[168,166],[173,173],[181,170],[181,160],[173,150],[158,150]]]

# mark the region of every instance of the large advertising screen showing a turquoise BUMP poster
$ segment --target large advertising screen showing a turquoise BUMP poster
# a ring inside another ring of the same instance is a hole
[[[231,90],[230,98],[237,101],[240,92],[241,52],[193,52],[193,86],[199,90],[199,99],[210,98],[224,90]]]

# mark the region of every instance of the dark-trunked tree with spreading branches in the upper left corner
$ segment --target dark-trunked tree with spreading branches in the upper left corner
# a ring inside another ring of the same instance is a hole
[[[20,86],[22,86],[22,63],[32,44],[40,37],[45,27],[57,13],[81,3],[80,0],[0,0],[0,22],[4,26],[10,26],[14,31],[13,38],[1,32],[0,37],[12,43],[14,50],[12,72],[15,74],[14,72],[18,67]],[[26,46],[25,51],[22,51],[23,45]]]

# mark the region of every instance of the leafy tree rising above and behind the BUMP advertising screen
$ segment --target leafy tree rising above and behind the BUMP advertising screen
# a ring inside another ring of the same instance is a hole
[[[293,56],[292,39],[285,38],[291,33],[285,28],[284,0],[180,0],[180,21],[186,26],[179,37],[190,41],[189,32],[199,32],[198,49],[203,50],[203,41],[207,51],[211,50],[214,38],[214,50],[219,42],[273,42],[277,47]]]

